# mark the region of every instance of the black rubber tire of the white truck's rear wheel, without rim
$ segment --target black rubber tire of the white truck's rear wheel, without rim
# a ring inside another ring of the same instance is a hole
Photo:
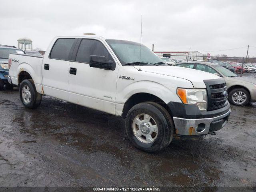
[[[25,102],[22,98],[22,89],[24,87],[28,87],[30,90],[31,98],[28,100],[28,102]],[[37,108],[42,100],[42,95],[36,92],[36,87],[34,85],[33,80],[31,79],[25,79],[20,84],[20,100],[22,104],[29,109],[35,109]]]

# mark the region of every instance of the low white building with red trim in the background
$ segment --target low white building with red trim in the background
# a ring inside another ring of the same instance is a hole
[[[159,57],[169,57],[178,60],[203,60],[203,54],[198,51],[154,51]]]

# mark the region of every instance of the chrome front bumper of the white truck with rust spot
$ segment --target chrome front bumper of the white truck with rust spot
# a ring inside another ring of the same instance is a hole
[[[178,136],[197,136],[220,130],[228,121],[231,110],[212,118],[185,119],[173,117]]]

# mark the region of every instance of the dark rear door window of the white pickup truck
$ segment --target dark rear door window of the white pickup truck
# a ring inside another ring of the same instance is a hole
[[[50,54],[50,58],[68,60],[71,47],[75,39],[58,39]]]

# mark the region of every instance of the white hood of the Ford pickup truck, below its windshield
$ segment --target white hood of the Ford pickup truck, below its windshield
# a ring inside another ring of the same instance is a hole
[[[136,69],[140,68],[142,71],[145,71],[145,72],[186,79],[192,82],[194,88],[206,88],[206,85],[204,84],[203,80],[220,78],[219,76],[216,76],[208,72],[190,69],[190,68],[184,68],[184,67],[177,67],[177,66],[141,66],[141,67],[134,66],[134,67]]]

